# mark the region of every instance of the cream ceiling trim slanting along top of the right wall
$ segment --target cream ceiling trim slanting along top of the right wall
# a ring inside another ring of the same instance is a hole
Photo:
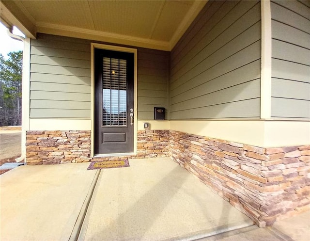
[[[200,13],[204,5],[207,3],[208,0],[203,1],[195,1],[192,7],[188,10],[186,16],[183,18],[182,22],[180,23],[178,29],[174,32],[170,42],[169,48],[172,48],[176,45],[176,43],[180,40],[183,34],[188,29],[189,25],[194,21],[197,15]]]

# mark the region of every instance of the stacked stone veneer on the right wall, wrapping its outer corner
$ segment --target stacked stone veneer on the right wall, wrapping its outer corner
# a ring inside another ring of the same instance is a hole
[[[261,227],[310,209],[310,145],[261,148],[171,130],[170,152]]]

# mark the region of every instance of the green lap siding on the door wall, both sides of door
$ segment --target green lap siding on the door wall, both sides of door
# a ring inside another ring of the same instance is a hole
[[[31,40],[31,118],[91,118],[90,40],[38,33]],[[107,44],[107,43],[103,43]],[[138,118],[165,107],[170,52],[138,48]]]

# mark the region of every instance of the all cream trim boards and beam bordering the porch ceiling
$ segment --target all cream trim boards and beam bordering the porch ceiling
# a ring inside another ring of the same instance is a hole
[[[36,32],[43,32],[48,34],[63,35],[69,37],[77,37],[82,39],[90,39],[114,44],[130,45],[142,48],[153,48],[165,51],[171,51],[172,48],[176,45],[182,35],[186,32],[187,28],[190,26],[195,17],[202,10],[203,6],[208,0],[196,0],[188,10],[186,16],[183,18],[182,22],[178,26],[177,30],[174,32],[171,40],[168,41],[159,41],[152,40],[152,35],[155,31],[158,19],[162,13],[165,1],[163,1],[160,11],[156,16],[151,35],[149,38],[134,37],[129,35],[116,34],[111,32],[102,32],[96,30],[88,30],[78,27],[71,27],[59,24],[52,24],[46,22],[35,22],[31,14],[23,7],[22,4],[15,4],[18,6],[21,15],[14,16],[9,9],[7,9],[4,4],[1,6],[1,18],[2,22],[7,21],[7,24],[15,25],[18,27],[27,37],[35,38]],[[1,1],[0,1],[1,2]],[[2,2],[1,2],[2,3]],[[5,16],[5,17],[4,17]],[[25,21],[27,17],[27,21]],[[28,23],[26,26],[25,23]]]

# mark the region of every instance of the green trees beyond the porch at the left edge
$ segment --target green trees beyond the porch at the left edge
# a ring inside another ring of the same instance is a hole
[[[0,126],[21,125],[23,51],[0,54]]]

